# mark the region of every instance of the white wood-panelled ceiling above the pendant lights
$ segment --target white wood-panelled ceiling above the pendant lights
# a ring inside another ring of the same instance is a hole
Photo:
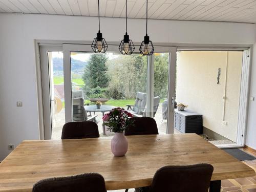
[[[97,0],[0,0],[0,12],[97,16]],[[145,18],[145,0],[127,0]],[[100,16],[125,17],[125,0],[100,0]],[[256,23],[256,0],[148,0],[148,18]]]

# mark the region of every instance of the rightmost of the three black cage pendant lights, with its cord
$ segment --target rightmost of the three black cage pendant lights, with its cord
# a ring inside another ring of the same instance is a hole
[[[154,46],[150,40],[150,36],[147,36],[147,0],[146,0],[146,36],[140,45],[141,55],[152,55],[154,53]]]

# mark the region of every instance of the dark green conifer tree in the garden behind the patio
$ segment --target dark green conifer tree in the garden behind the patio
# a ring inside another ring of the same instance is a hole
[[[92,90],[104,90],[109,85],[109,75],[106,74],[108,67],[105,63],[108,60],[104,54],[92,54],[88,65],[84,68],[82,79],[84,82],[84,91],[90,96]],[[102,94],[102,93],[100,93]]]

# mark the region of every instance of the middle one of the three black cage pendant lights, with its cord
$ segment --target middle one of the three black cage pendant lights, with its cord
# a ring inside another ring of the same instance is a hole
[[[133,41],[129,39],[129,35],[127,34],[127,0],[125,0],[125,35],[123,35],[123,40],[119,45],[119,51],[123,55],[131,55],[135,49],[133,45]]]

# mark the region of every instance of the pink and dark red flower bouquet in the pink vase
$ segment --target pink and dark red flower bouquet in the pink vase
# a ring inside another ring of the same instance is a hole
[[[130,117],[133,115],[123,108],[114,108],[102,117],[103,125],[109,126],[108,130],[114,133],[122,133],[133,124]]]

